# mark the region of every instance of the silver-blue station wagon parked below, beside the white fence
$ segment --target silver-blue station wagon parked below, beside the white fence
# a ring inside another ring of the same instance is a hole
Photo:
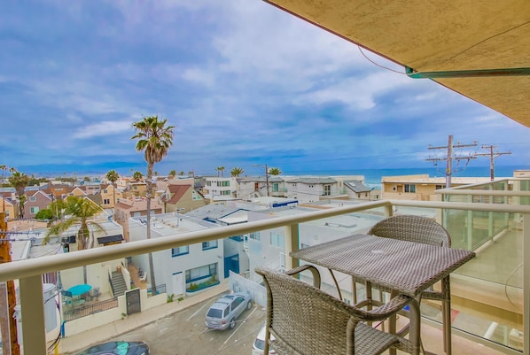
[[[250,295],[242,292],[225,295],[211,305],[207,313],[207,328],[226,329],[236,327],[236,320],[252,307]]]

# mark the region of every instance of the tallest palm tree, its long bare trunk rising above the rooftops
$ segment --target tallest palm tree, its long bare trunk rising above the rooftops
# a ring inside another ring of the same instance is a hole
[[[147,162],[147,239],[151,239],[151,196],[152,196],[152,167],[168,155],[169,148],[173,145],[173,129],[175,126],[166,126],[168,119],[159,120],[157,116],[144,117],[144,120],[133,123],[136,135],[131,139],[137,139],[136,150],[144,150],[144,158]],[[152,264],[152,253],[149,253],[149,269],[151,276],[152,294],[156,294],[156,282],[154,280],[154,267]]]

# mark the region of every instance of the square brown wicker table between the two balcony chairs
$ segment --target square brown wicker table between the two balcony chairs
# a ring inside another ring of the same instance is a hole
[[[412,297],[441,281],[441,292],[446,295],[442,302],[444,347],[451,354],[449,274],[474,258],[474,252],[376,235],[351,235],[289,255]]]

